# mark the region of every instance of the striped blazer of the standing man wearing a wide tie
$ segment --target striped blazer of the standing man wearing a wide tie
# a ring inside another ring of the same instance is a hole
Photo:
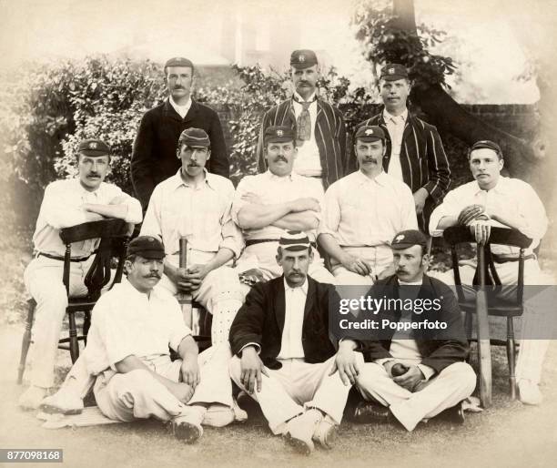
[[[353,172],[356,165],[352,164],[349,168],[346,154],[346,127],[344,117],[337,107],[331,106],[328,102],[317,99],[317,118],[315,122],[315,141],[319,148],[319,158],[323,169],[322,181],[326,189],[330,184]],[[279,106],[270,108],[263,116],[263,122],[259,131],[258,139],[258,170],[267,170],[267,160],[263,153],[263,137],[265,129],[271,126],[296,127],[296,116],[292,99],[282,101]]]

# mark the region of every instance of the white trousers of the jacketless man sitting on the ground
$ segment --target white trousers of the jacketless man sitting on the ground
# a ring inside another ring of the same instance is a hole
[[[230,348],[226,344],[199,354],[201,382],[187,404],[179,402],[146,370],[99,374],[94,387],[96,403],[106,417],[126,422],[151,417],[168,421],[194,403],[220,403],[232,408],[232,384],[228,374],[230,357]],[[181,360],[170,361],[169,356],[159,356],[143,361],[151,371],[179,382]]]

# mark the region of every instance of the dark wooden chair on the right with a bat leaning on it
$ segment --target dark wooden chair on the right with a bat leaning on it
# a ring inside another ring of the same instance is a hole
[[[445,229],[443,238],[451,247],[452,271],[454,273],[455,284],[457,285],[458,300],[461,309],[466,313],[465,326],[467,334],[471,337],[472,314],[477,314],[477,341],[479,351],[479,361],[487,364],[487,354],[490,353],[489,345],[505,345],[507,350],[507,361],[509,365],[509,385],[511,391],[511,399],[516,399],[516,378],[515,370],[515,339],[514,339],[514,317],[520,317],[524,311],[523,294],[524,294],[524,249],[532,244],[532,239],[527,238],[522,232],[516,229],[491,228],[490,240],[485,246],[477,244],[477,267],[474,276],[474,285],[479,287],[475,302],[466,300],[461,288],[461,274],[459,269],[458,245],[461,243],[475,242],[471,235],[470,229],[463,226],[455,226]],[[491,245],[499,244],[517,247],[520,249],[519,257],[516,261],[518,269],[518,280],[515,291],[513,291],[511,299],[502,300],[497,298],[498,292],[501,292],[501,280],[495,270],[495,264],[491,254]],[[487,290],[491,288],[490,294]],[[491,302],[491,303],[490,303]],[[507,320],[507,339],[506,341],[491,340],[489,334],[489,323],[487,315],[496,317],[505,317]],[[487,341],[486,341],[487,340]],[[482,352],[487,345],[487,350]],[[491,400],[491,358],[489,361],[489,379],[481,379],[482,382],[489,382],[489,392],[486,392],[484,398]],[[481,389],[482,390],[482,389]],[[488,389],[486,389],[488,390]],[[489,395],[487,394],[489,393]],[[489,397],[489,398],[488,398]]]

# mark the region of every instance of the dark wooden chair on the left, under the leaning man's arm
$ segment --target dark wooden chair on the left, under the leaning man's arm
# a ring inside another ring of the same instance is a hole
[[[79,224],[71,228],[60,229],[60,238],[66,245],[62,281],[68,295],[66,313],[69,321],[69,336],[58,341],[58,348],[70,351],[72,362],[79,357],[79,341],[86,342],[86,335],[91,325],[91,310],[100,297],[101,290],[110,282],[111,266],[116,259],[116,273],[112,284],[122,280],[124,260],[126,259],[127,243],[131,234],[130,225],[122,219],[103,219]],[[100,239],[96,256],[86,273],[85,284],[88,293],[85,297],[69,298],[70,260],[72,243],[86,239]],[[21,356],[17,371],[17,383],[23,381],[27,351],[31,344],[31,330],[35,316],[35,300],[28,300],[25,332],[21,344]],[[76,312],[85,312],[83,334],[77,336]],[[66,344],[67,343],[67,344]]]

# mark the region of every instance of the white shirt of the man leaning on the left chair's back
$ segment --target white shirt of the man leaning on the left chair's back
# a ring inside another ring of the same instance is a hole
[[[60,239],[60,229],[87,222],[86,203],[108,205],[116,197],[124,197],[127,205],[126,222],[140,223],[143,218],[141,205],[113,184],[102,182],[93,192],[83,188],[79,178],[56,180],[46,187],[45,197],[36,220],[33,243],[37,252],[64,257],[66,246]],[[86,257],[96,249],[98,239],[88,239],[72,244],[72,257]]]

